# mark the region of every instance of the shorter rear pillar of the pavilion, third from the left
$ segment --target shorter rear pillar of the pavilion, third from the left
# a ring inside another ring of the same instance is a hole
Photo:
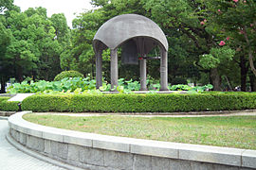
[[[140,91],[147,91],[147,59],[139,60]]]

